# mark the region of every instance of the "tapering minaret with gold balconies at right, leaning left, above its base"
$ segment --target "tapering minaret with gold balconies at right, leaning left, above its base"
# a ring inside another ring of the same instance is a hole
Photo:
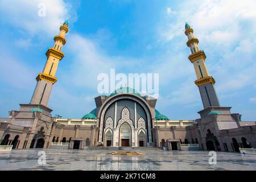
[[[210,106],[220,106],[214,89],[214,78],[209,76],[207,66],[205,65],[205,53],[200,51],[198,46],[199,40],[194,37],[193,32],[193,28],[186,22],[185,35],[188,36],[187,46],[191,49],[191,55],[188,56],[188,59],[193,63],[196,71],[197,80],[195,84],[199,87],[204,109]]]

